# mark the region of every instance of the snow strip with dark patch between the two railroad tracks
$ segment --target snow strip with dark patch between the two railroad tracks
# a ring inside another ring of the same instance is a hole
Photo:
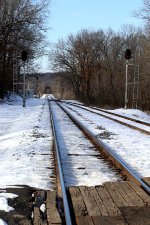
[[[84,126],[140,177],[150,177],[150,137],[112,120],[69,105],[68,109]]]

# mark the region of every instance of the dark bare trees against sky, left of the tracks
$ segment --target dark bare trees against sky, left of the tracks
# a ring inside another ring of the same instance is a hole
[[[13,66],[20,73],[21,52],[42,54],[47,0],[0,0],[0,98],[12,90]]]

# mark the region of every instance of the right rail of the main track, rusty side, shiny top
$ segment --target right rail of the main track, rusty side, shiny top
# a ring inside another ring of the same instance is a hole
[[[109,157],[110,160],[112,160],[121,170],[124,171],[124,174],[127,175],[127,177],[131,180],[133,180],[136,184],[141,186],[148,194],[150,194],[150,187],[136,174],[134,174],[126,165],[125,162],[118,159],[117,156],[113,153],[113,150],[110,146],[105,144],[103,141],[97,139],[95,135],[87,129],[85,126],[83,126],[82,123],[77,121],[75,117],[62,106],[60,103],[57,102],[57,104],[63,109],[63,111],[70,117],[70,119],[90,138],[92,141]]]

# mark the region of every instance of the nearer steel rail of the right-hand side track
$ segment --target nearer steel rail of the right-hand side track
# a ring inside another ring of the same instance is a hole
[[[134,126],[134,125],[132,125],[132,124],[123,122],[123,121],[121,121],[121,120],[118,120],[118,119],[115,119],[115,118],[112,118],[112,117],[103,115],[103,114],[101,114],[101,113],[99,113],[99,112],[94,112],[94,111],[92,111],[91,109],[86,109],[84,106],[81,106],[81,105],[78,105],[78,104],[71,104],[71,105],[73,105],[73,106],[75,106],[75,107],[78,107],[78,108],[81,108],[81,109],[84,109],[84,110],[87,110],[87,111],[92,112],[92,113],[94,113],[94,114],[97,114],[97,115],[99,115],[99,116],[103,116],[103,117],[105,117],[105,118],[107,118],[107,119],[109,119],[109,120],[113,120],[113,121],[115,121],[115,122],[117,122],[117,123],[120,123],[120,124],[122,124],[122,125],[128,126],[128,127],[132,128],[132,129],[134,129],[134,130],[138,130],[138,131],[140,131],[140,132],[142,132],[142,133],[144,133],[144,134],[150,135],[150,131],[144,130],[144,129],[140,128],[140,127],[136,127],[136,126]],[[101,110],[98,110],[98,111],[101,111]],[[107,112],[104,112],[104,113],[107,113]],[[109,114],[109,113],[107,113],[107,114]],[[115,116],[118,116],[118,115],[115,115]],[[127,118],[125,118],[125,117],[122,117],[122,118],[127,119]],[[131,120],[131,119],[130,119],[130,120]],[[134,120],[131,120],[131,121],[136,122],[136,121],[134,121]],[[145,125],[145,124],[143,124],[143,125]]]

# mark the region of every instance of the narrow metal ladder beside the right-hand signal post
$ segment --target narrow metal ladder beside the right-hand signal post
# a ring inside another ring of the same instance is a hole
[[[132,108],[137,109],[139,94],[139,65],[134,65]]]

